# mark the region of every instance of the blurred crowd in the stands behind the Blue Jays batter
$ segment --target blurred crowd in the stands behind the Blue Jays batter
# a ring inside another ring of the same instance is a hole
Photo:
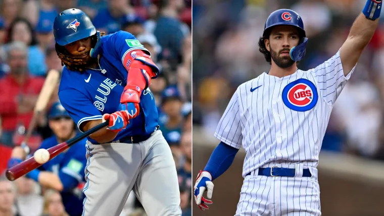
[[[161,75],[150,88],[158,105],[160,129],[176,162],[180,207],[183,215],[191,215],[191,0],[2,0],[0,216],[68,215],[58,191],[25,177],[10,182],[4,171],[12,149],[26,134],[47,73],[63,68],[55,50],[53,22],[69,8],[83,10],[101,32],[132,33],[151,51]],[[57,100],[56,89],[50,104]],[[54,135],[47,122],[46,115],[37,119],[28,142],[32,153],[42,140]],[[133,193],[121,215],[146,215]]]

